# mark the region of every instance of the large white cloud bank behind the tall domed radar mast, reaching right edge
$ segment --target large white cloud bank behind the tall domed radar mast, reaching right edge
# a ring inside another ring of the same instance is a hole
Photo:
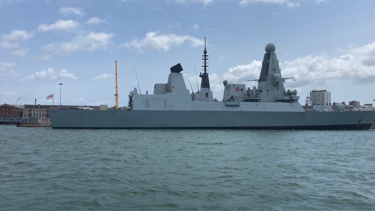
[[[247,65],[238,65],[228,70],[228,81],[245,83],[258,79],[262,66],[261,60]],[[362,82],[375,82],[375,41],[359,48],[347,50],[338,57],[307,55],[280,63],[282,77],[296,77],[294,86],[306,84],[330,83],[337,79],[351,79]],[[225,75],[222,76],[225,78]]]

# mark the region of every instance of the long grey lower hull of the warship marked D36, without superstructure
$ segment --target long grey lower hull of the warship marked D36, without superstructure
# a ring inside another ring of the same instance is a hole
[[[54,110],[52,128],[369,130],[375,111]]]

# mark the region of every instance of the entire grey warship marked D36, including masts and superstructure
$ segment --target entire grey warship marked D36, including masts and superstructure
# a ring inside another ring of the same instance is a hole
[[[121,110],[52,110],[53,128],[209,128],[284,130],[368,130],[375,111],[335,110],[330,105],[303,107],[297,90],[285,90],[274,44],[266,45],[258,86],[223,81],[223,99],[213,99],[207,72],[198,92],[186,88],[182,66],[170,68],[167,83],[154,85],[153,94],[130,91]]]

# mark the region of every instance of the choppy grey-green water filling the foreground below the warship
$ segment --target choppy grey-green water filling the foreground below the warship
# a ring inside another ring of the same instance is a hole
[[[0,209],[374,210],[374,135],[0,126]]]

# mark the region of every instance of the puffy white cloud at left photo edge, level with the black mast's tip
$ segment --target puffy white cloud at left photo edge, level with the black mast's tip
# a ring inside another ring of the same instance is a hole
[[[28,33],[24,30],[13,30],[9,34],[1,35],[1,48],[18,48],[20,44],[18,41],[26,41],[34,36],[34,34]]]

